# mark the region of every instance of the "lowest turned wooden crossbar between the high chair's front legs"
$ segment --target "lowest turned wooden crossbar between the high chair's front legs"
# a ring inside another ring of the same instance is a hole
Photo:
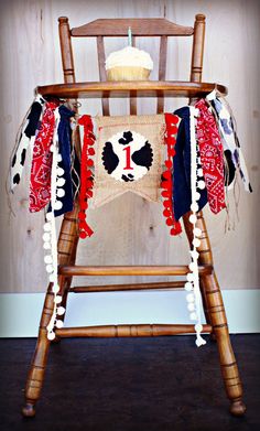
[[[212,333],[212,325],[203,325],[202,332]],[[130,324],[102,325],[84,327],[63,327],[56,330],[57,337],[131,337],[131,336],[163,336],[195,333],[191,324]]]

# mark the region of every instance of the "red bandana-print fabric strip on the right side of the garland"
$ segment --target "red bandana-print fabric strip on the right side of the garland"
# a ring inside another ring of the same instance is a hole
[[[196,136],[208,203],[212,212],[217,214],[226,207],[223,143],[206,101],[198,100],[195,107],[199,110]]]

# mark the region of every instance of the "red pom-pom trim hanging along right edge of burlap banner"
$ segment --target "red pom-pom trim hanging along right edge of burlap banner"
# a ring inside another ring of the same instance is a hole
[[[162,197],[164,198],[163,206],[163,215],[166,218],[166,225],[171,227],[171,235],[178,235],[182,231],[182,226],[180,222],[175,220],[173,213],[173,158],[175,155],[175,143],[176,143],[176,134],[177,134],[177,126],[180,122],[180,118],[174,114],[165,114],[165,123],[166,123],[166,133],[165,133],[165,143],[167,146],[167,159],[165,161],[166,170],[162,174],[162,183],[161,187]]]

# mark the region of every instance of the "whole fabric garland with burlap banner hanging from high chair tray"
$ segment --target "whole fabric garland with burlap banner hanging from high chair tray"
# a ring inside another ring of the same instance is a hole
[[[75,129],[76,123],[84,129],[80,163],[73,142],[72,129]],[[230,153],[229,168],[234,166],[239,172],[245,188],[251,191],[235,120],[213,91],[207,96],[207,101],[201,99],[195,106],[183,107],[174,114],[99,117],[97,123],[96,142],[90,116],[84,115],[77,119],[75,112],[62,101],[44,100],[37,95],[19,134],[12,158],[11,191],[21,180],[28,146],[34,142],[30,211],[39,212],[48,205],[43,226],[43,247],[54,293],[54,309],[47,325],[47,337],[54,340],[55,327],[63,325],[58,316],[65,312],[61,306],[62,295],[58,294],[55,217],[71,212],[78,194],[79,237],[90,237],[93,229],[86,222],[86,212],[90,198],[96,202],[96,206],[100,205],[101,201],[98,202],[94,193],[99,180],[107,187],[105,203],[128,190],[158,202],[161,183],[163,215],[171,235],[181,233],[180,218],[188,211],[192,213],[192,262],[185,290],[189,317],[195,321],[196,345],[201,346],[205,341],[201,335],[202,297],[197,248],[201,246],[202,231],[196,227],[197,212],[207,202],[214,214],[226,206],[224,154],[227,159],[227,151]],[[166,148],[164,168],[163,143]],[[112,195],[113,184],[117,184],[117,191]]]

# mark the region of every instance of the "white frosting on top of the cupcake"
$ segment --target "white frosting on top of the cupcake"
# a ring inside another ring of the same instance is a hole
[[[153,68],[153,61],[149,53],[133,46],[127,46],[123,50],[116,51],[106,60],[106,69],[117,66],[144,67],[149,71]]]

